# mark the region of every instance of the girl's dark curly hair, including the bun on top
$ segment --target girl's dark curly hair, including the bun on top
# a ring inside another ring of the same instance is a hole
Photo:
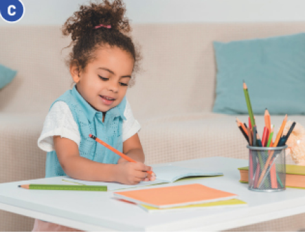
[[[84,70],[95,59],[95,50],[109,45],[131,54],[135,61],[133,73],[137,72],[141,56],[129,35],[131,26],[124,16],[125,12],[126,8],[121,0],[114,0],[113,3],[108,0],[103,0],[102,3],[90,1],[89,5],[80,5],[80,10],[74,12],[62,28],[64,36],[71,34],[72,41],[67,47],[73,45],[69,58],[65,61],[67,67],[78,65],[80,70]],[[111,25],[111,28],[94,28],[100,24]],[[134,77],[128,86],[133,84]]]

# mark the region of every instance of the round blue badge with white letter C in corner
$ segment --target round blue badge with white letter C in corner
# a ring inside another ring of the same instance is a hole
[[[25,12],[21,0],[0,0],[0,16],[8,23],[18,22]]]

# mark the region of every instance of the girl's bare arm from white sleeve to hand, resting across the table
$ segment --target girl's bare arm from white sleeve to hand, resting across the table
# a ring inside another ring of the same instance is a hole
[[[119,182],[135,185],[147,176],[151,167],[144,163],[98,163],[80,156],[78,145],[71,139],[54,136],[58,161],[65,174],[84,181]]]

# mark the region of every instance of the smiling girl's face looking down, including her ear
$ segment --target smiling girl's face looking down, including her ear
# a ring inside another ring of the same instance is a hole
[[[71,76],[84,100],[106,112],[122,102],[133,73],[134,60],[118,47],[102,47],[83,71],[71,66]]]

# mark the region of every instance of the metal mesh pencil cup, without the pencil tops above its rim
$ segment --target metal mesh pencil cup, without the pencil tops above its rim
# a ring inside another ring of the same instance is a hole
[[[249,189],[257,192],[279,192],[286,189],[287,146],[249,148]]]

